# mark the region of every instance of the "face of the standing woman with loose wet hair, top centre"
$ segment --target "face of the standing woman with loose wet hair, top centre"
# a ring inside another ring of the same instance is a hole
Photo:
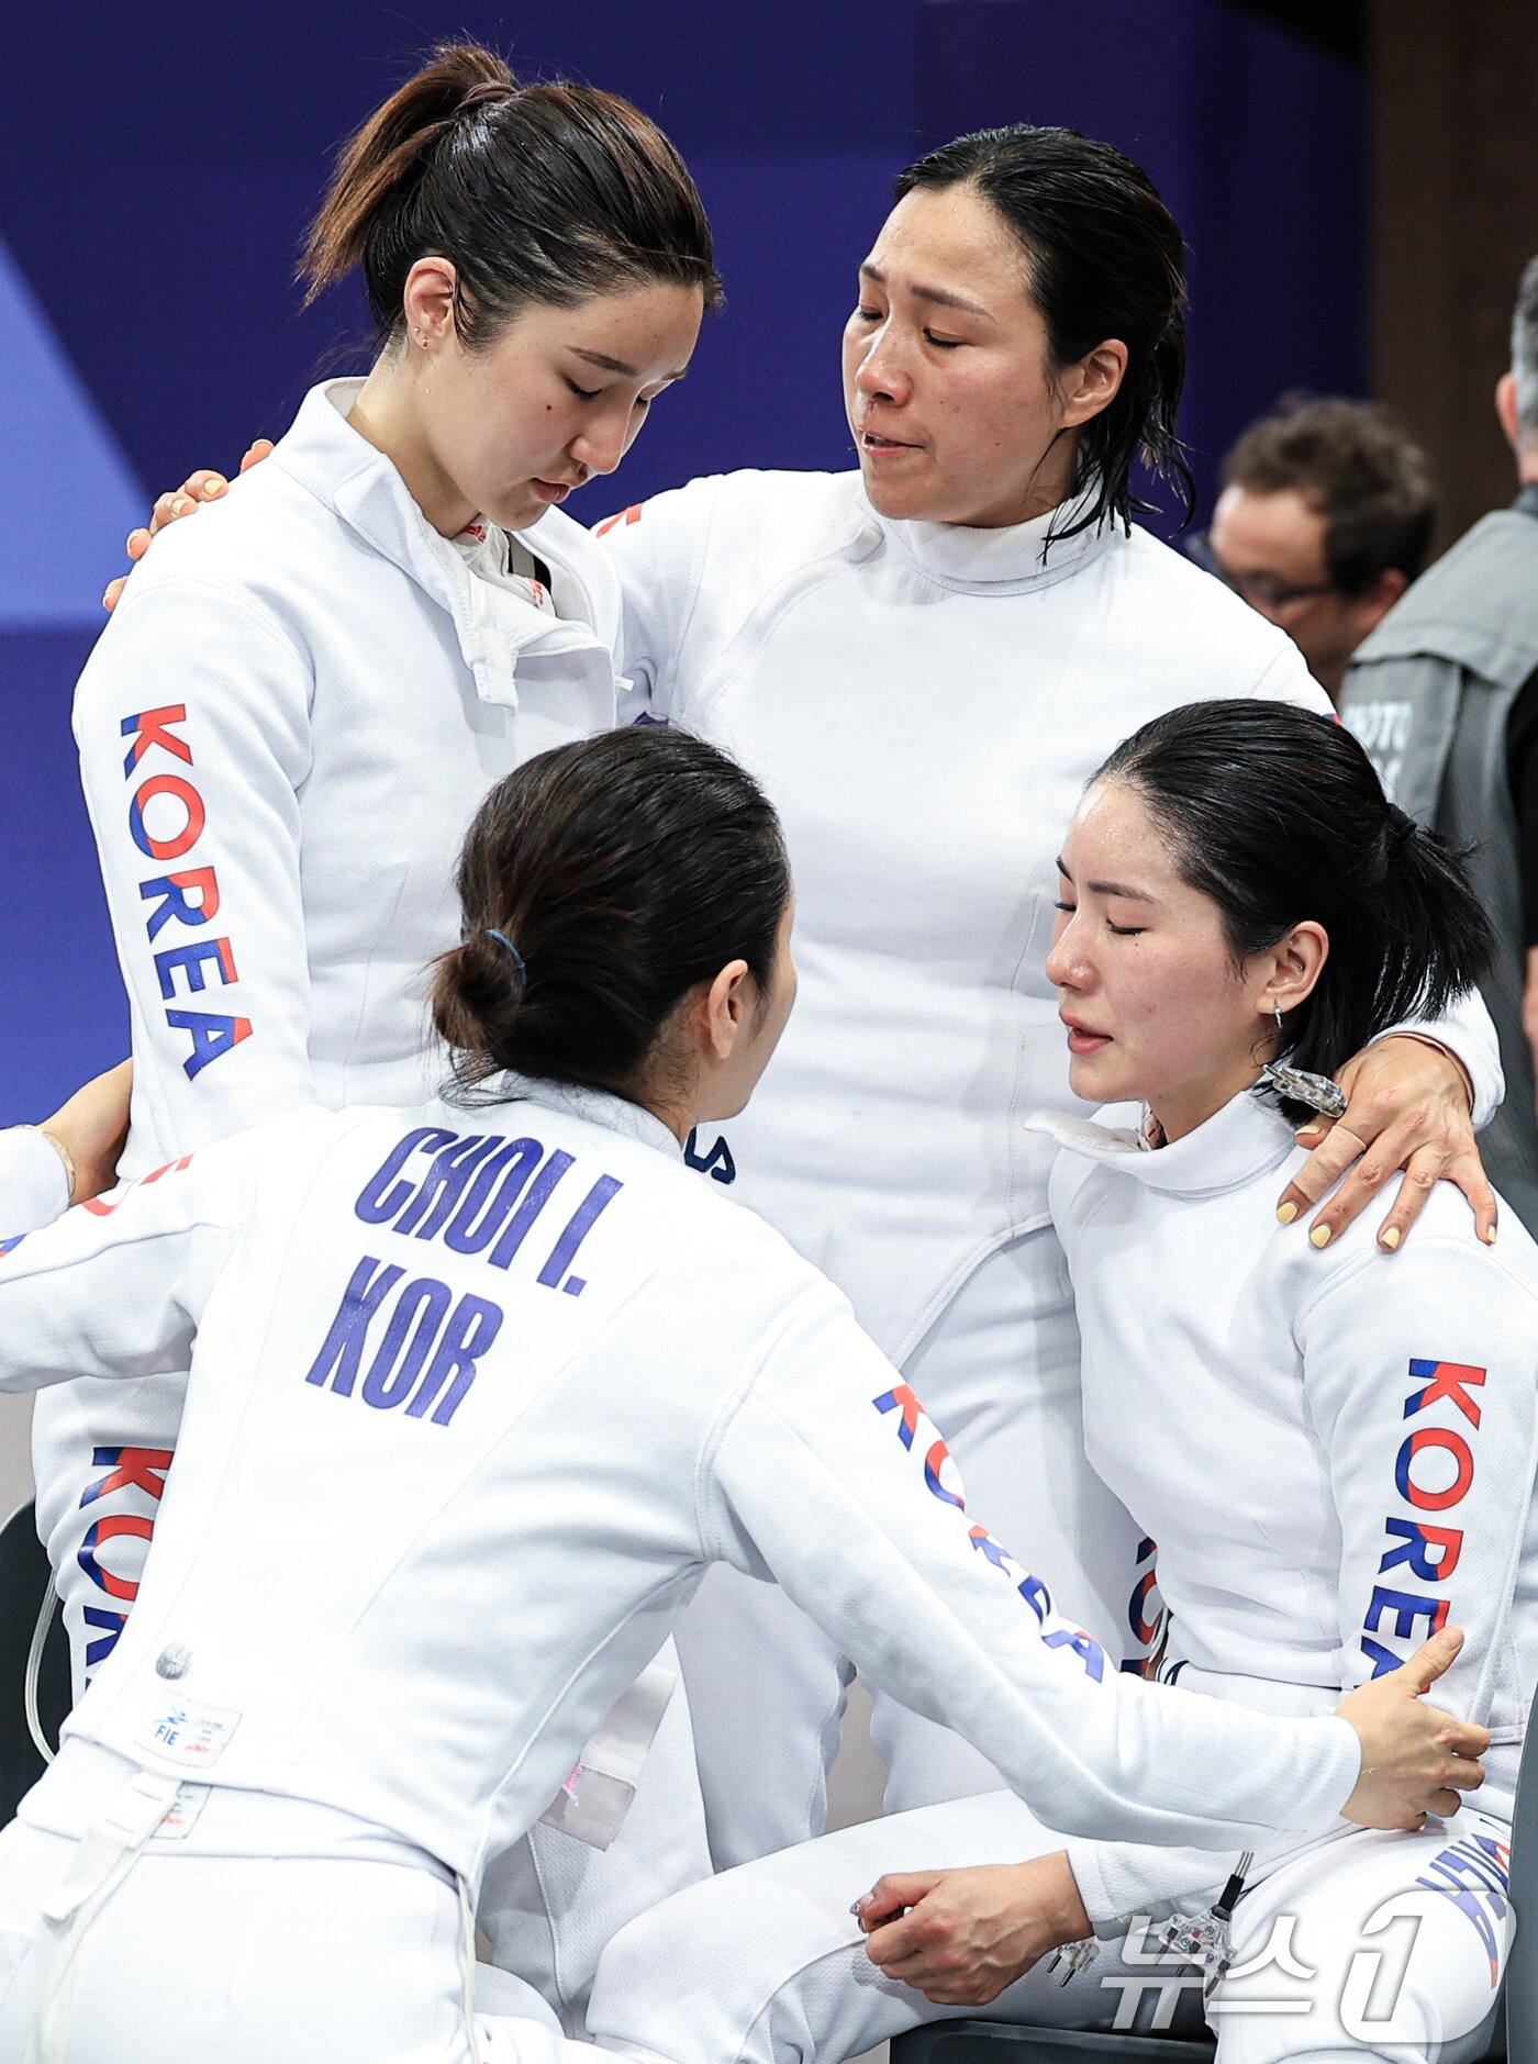
[[[915,190],[861,266],[844,411],[884,516],[993,528],[1067,493],[1069,409],[1028,260],[968,186]]]

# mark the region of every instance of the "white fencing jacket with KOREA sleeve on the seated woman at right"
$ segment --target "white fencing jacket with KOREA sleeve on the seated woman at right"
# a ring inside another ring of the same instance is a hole
[[[1491,1728],[1478,1804],[1509,1816],[1538,1680],[1538,1247],[1515,1214],[1484,1247],[1441,1185],[1396,1255],[1387,1199],[1319,1253],[1276,1224],[1305,1154],[1253,1092],[1158,1152],[1084,1121],[1038,1137],[1061,1148],[1088,1457],[1158,1542],[1160,1674],[1319,1713],[1462,1626],[1431,1697]],[[1171,1891],[1168,1856],[1069,1853],[1096,1920]]]

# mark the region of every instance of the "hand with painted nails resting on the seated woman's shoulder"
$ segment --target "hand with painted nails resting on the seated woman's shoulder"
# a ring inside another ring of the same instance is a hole
[[[1313,1245],[1327,1247],[1402,1168],[1400,1195],[1379,1228],[1379,1247],[1393,1253],[1441,1181],[1464,1191],[1480,1238],[1495,1240],[1495,1191],[1474,1139],[1462,1065],[1441,1046],[1396,1034],[1358,1053],[1336,1079],[1346,1092],[1346,1110],[1334,1125],[1317,1119],[1299,1131],[1299,1146],[1313,1146],[1315,1152],[1278,1199],[1282,1224],[1340,1183],[1309,1226]]]

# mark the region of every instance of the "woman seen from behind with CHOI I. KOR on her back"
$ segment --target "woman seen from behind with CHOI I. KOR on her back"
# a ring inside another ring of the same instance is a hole
[[[460,863],[452,1100],[289,1112],[10,1247],[0,1383],[192,1375],[138,1604],[0,1835],[0,2054],[566,2050],[533,2012],[483,2047],[483,1860],[710,1562],[1086,1837],[1406,1827],[1482,1781],[1416,1697],[1451,1628],[1338,1715],[1107,1668],[846,1300],[681,1164],[789,1013],[789,890],[714,747],[543,753]]]

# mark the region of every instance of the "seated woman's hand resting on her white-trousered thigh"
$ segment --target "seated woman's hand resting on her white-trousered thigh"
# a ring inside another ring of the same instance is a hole
[[[1063,1849],[1028,1864],[894,1872],[857,1911],[882,1975],[937,2006],[987,2006],[1051,1950],[1094,1932]]]

